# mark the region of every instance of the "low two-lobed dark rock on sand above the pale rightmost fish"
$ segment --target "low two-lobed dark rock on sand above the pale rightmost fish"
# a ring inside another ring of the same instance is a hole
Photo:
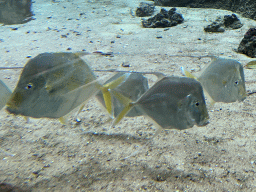
[[[205,32],[224,32],[226,29],[238,29],[243,24],[237,18],[235,14],[225,15],[223,18],[218,17],[212,24],[207,25],[204,28]]]

